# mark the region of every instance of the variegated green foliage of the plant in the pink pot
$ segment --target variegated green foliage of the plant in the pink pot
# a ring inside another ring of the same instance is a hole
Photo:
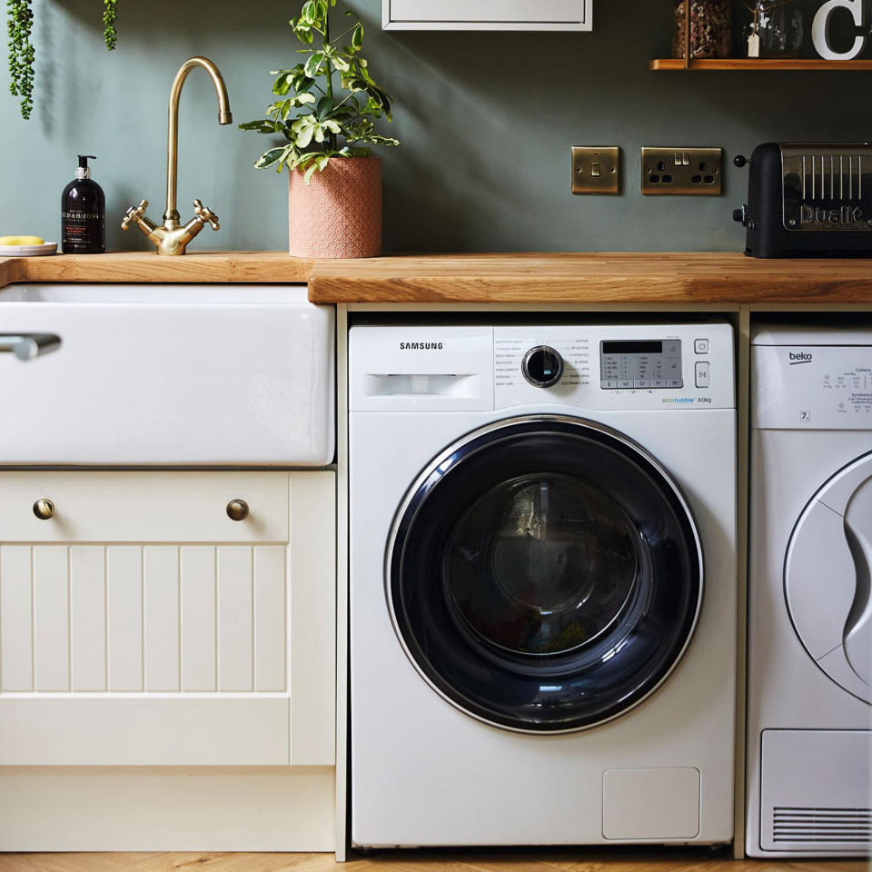
[[[363,25],[358,15],[346,12],[350,26],[331,38],[329,12],[335,5],[336,0],[307,0],[300,17],[288,22],[306,46],[298,54],[308,57],[292,69],[273,71],[278,78],[267,117],[239,125],[241,130],[284,137],[284,144],[254,162],[258,169],[300,169],[309,183],[312,173],[322,171],[332,157],[368,157],[371,145],[400,144],[375,133],[375,121],[391,121],[391,97],[373,80],[360,54]]]

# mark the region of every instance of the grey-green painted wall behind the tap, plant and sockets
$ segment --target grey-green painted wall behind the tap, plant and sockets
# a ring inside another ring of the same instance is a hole
[[[396,100],[384,150],[388,251],[735,250],[730,220],[747,171],[728,166],[719,198],[639,194],[641,145],[721,145],[728,158],[769,139],[868,138],[872,76],[826,73],[654,74],[669,53],[670,0],[595,0],[592,34],[381,32],[381,0],[352,0],[364,55]],[[118,50],[102,47],[99,0],[35,0],[36,107],[30,122],[0,91],[0,234],[56,239],[75,154],[97,154],[112,249],[142,249],[118,227],[146,197],[163,212],[166,101],[192,54],[218,64],[237,122],[270,101],[269,70],[294,62],[278,0],[121,0]],[[255,171],[266,137],[219,127],[211,84],[183,94],[179,203],[200,197],[222,219],[193,247],[282,249],[284,180]],[[618,144],[619,197],[569,193],[569,149]],[[193,249],[192,249],[193,250]]]

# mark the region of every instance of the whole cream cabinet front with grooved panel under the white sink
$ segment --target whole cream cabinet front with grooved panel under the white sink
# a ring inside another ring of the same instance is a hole
[[[334,480],[0,473],[0,766],[332,765]]]

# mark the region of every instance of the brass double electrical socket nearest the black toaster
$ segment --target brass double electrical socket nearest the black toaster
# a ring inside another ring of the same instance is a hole
[[[642,193],[718,197],[724,190],[723,163],[722,148],[643,148]]]

